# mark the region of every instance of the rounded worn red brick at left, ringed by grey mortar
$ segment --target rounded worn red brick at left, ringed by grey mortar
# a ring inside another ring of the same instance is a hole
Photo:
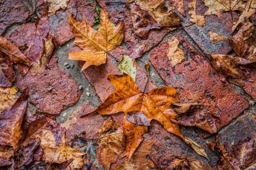
[[[49,69],[34,72],[17,78],[20,90],[28,88],[30,103],[33,103],[41,112],[58,115],[61,110],[74,105],[82,94],[79,85],[70,75],[59,68],[55,57],[48,65]]]

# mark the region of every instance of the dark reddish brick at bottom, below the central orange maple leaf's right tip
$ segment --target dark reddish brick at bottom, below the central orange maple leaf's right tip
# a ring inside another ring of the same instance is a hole
[[[156,121],[151,121],[149,131],[143,137],[144,140],[155,140],[148,156],[158,169],[167,168],[175,158],[186,158],[188,146],[179,137],[165,131]],[[211,168],[208,161],[202,156],[198,156],[192,149],[190,149],[187,156],[200,161],[205,169]]]

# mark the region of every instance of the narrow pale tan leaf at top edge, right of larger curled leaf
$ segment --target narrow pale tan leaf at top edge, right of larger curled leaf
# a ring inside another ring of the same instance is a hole
[[[197,7],[197,0],[193,0],[189,2],[189,15],[190,15],[190,22],[197,24],[198,26],[205,26],[205,16],[198,15],[196,11]]]

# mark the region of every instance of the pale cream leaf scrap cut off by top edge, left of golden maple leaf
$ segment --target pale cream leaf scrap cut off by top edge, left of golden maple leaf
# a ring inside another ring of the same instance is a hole
[[[48,2],[48,16],[54,15],[59,9],[66,9],[69,0],[47,0]]]

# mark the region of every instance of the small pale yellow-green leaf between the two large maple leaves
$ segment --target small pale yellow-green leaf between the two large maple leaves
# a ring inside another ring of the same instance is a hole
[[[135,81],[136,73],[137,73],[135,60],[131,59],[127,55],[123,55],[121,62],[119,62],[118,68],[122,73],[126,73]]]

